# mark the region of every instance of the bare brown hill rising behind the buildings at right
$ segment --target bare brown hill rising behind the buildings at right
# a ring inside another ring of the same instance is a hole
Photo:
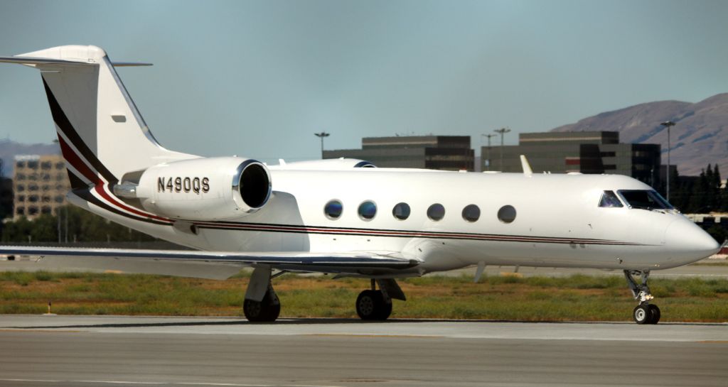
[[[700,175],[708,164],[719,164],[728,176],[728,93],[699,103],[658,101],[608,111],[563,125],[552,132],[611,130],[620,132],[622,143],[662,144],[662,164],[668,162],[668,132],[660,122],[676,123],[670,129],[670,164],[680,175]]]

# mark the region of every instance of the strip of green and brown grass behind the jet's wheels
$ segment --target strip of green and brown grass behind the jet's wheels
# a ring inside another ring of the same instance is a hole
[[[227,281],[141,274],[0,273],[0,314],[242,316],[250,275]],[[355,318],[365,279],[287,274],[274,280],[282,316]],[[404,279],[395,318],[628,321],[636,306],[621,276],[425,276]],[[728,281],[651,279],[662,321],[728,322]]]

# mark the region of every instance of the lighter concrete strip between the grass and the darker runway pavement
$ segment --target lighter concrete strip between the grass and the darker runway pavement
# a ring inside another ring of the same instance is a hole
[[[505,322],[492,320],[280,319],[236,317],[0,315],[1,332],[155,333],[181,335],[347,335],[531,340],[634,340],[728,343],[728,323]]]

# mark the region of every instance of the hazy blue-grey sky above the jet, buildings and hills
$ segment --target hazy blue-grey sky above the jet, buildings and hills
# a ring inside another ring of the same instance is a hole
[[[165,148],[269,163],[362,137],[541,132],[728,92],[728,1],[8,1],[0,56],[65,44],[119,76]],[[0,65],[0,138],[50,143],[38,72]],[[479,153],[476,151],[476,153]]]

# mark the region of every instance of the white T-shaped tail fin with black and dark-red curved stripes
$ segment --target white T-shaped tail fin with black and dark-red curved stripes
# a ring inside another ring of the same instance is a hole
[[[74,188],[115,184],[124,173],[195,157],[159,145],[114,64],[99,47],[52,47],[0,57],[0,62],[20,63],[41,71]]]

